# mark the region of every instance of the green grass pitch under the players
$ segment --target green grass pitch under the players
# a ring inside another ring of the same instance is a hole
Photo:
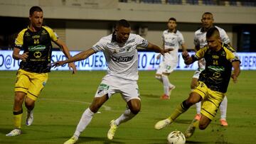
[[[175,123],[161,131],[154,124],[169,116],[171,111],[187,98],[193,71],[175,71],[169,79],[176,85],[170,100],[161,100],[163,87],[154,78],[154,71],[139,72],[139,93],[142,110],[132,121],[117,129],[113,140],[107,140],[109,122],[119,117],[126,108],[119,94],[114,94],[96,113],[78,143],[104,144],[161,144],[171,131],[186,131],[196,113],[191,107]],[[0,143],[46,144],[63,143],[70,138],[83,111],[89,106],[105,72],[79,71],[50,72],[46,87],[36,101],[34,122],[25,125],[23,113],[22,135],[6,137],[13,128],[14,82],[16,71],[0,71]],[[238,83],[230,81],[228,88],[228,127],[220,126],[218,111],[204,131],[196,130],[186,143],[256,143],[256,71],[242,71]],[[25,108],[23,108],[26,111]]]

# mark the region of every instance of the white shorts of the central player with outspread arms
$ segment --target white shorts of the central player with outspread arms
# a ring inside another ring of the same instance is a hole
[[[139,87],[137,81],[122,79],[106,75],[97,89],[95,97],[101,97],[107,94],[110,98],[113,94],[120,93],[124,101],[139,99]]]

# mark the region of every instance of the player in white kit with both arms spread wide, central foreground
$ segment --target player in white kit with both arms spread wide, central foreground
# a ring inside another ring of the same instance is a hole
[[[78,123],[72,138],[65,144],[75,143],[82,131],[90,123],[92,116],[100,109],[115,93],[120,93],[127,102],[127,109],[119,118],[110,121],[110,130],[107,138],[112,140],[114,133],[121,123],[129,121],[139,113],[141,101],[139,98],[139,88],[137,85],[138,76],[138,52],[137,47],[154,50],[164,55],[173,49],[161,49],[156,45],[149,43],[140,35],[132,34],[129,22],[122,19],[117,22],[114,33],[100,39],[89,50],[82,51],[65,61],[55,62],[55,66],[65,63],[85,60],[90,55],[102,51],[108,64],[107,74],[103,77],[100,86],[97,89],[95,98],[89,108],[82,113],[82,118]]]

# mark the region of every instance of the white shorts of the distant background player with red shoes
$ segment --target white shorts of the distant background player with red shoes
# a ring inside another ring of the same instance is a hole
[[[177,67],[177,62],[164,62],[161,61],[158,69],[156,70],[156,74],[171,73],[174,72],[174,69]]]

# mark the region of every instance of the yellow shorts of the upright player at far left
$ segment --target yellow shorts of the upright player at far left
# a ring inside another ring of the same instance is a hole
[[[30,99],[36,101],[46,85],[48,73],[27,72],[18,70],[14,92],[24,92]]]

